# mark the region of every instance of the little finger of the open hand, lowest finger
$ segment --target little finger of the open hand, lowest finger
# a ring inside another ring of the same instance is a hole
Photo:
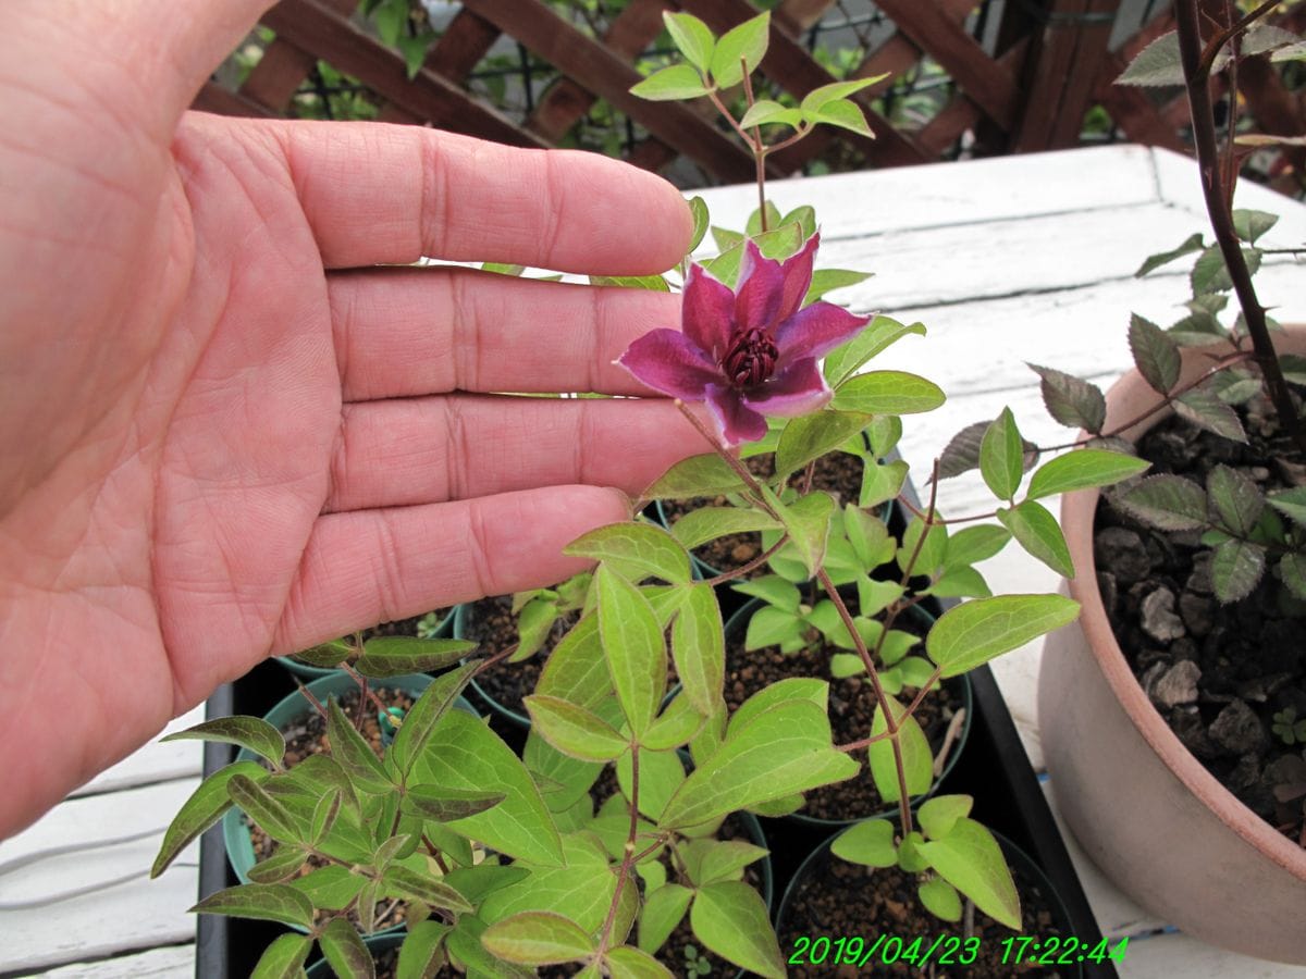
[[[362,623],[562,581],[590,564],[564,556],[563,547],[629,516],[620,492],[569,486],[323,517],[273,651],[293,653]]]

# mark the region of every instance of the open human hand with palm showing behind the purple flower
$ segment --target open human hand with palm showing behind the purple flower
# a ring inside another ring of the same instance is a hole
[[[270,653],[545,585],[696,433],[611,362],[679,194],[579,153],[185,112],[268,0],[0,37],[0,838]],[[221,8],[221,9],[218,9]],[[51,715],[57,717],[55,730]],[[42,731],[39,741],[31,734]]]

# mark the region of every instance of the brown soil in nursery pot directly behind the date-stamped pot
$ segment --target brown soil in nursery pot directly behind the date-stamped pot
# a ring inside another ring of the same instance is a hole
[[[913,632],[909,623],[901,619],[895,628]],[[726,637],[726,681],[725,701],[731,711],[737,710],[748,697],[769,687],[777,680],[791,676],[816,676],[829,683],[829,722],[835,744],[848,744],[866,738],[871,732],[875,717],[875,693],[866,676],[836,679],[829,675],[829,658],[835,653],[848,650],[820,645],[793,655],[785,655],[778,646],[744,651],[744,632]],[[948,726],[964,706],[961,687],[947,681],[935,688],[916,710],[916,719],[925,731],[930,747],[938,756],[943,747]],[[905,692],[906,693],[906,692]],[[910,691],[914,696],[916,691]],[[902,700],[902,694],[899,697]],[[953,741],[951,751],[956,751]],[[838,782],[806,792],[807,803],[798,812],[819,820],[859,820],[878,816],[887,805],[880,798],[870,766],[865,764],[865,753],[859,753],[862,770],[848,782]]]

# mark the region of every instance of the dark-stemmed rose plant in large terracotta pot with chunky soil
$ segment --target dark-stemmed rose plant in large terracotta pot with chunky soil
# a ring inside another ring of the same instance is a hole
[[[1153,466],[1068,493],[1064,539],[1046,535],[1043,560],[1079,572],[1067,587],[1083,615],[1045,646],[1040,727],[1060,812],[1123,890],[1203,940],[1306,963],[1306,758],[1289,721],[1306,706],[1306,441],[1290,386],[1306,380],[1306,337],[1271,333],[1252,273],[1275,218],[1232,209],[1234,146],[1222,158],[1208,91],[1212,65],[1237,61],[1226,46],[1294,39],[1249,33],[1254,17],[1203,39],[1196,3],[1177,13],[1178,33],[1121,81],[1187,87],[1215,240],[1144,262],[1139,274],[1195,256],[1192,296],[1168,330],[1132,319],[1138,369],[1105,397],[1036,368],[1051,414],[1084,429],[1077,445],[1136,443]],[[1235,320],[1221,316],[1230,291]],[[952,461],[968,465],[973,443],[959,437]]]

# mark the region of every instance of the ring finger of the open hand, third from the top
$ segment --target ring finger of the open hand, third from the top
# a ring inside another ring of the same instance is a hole
[[[707,448],[662,398],[466,396],[346,405],[324,509],[411,506],[572,483],[633,496]]]

